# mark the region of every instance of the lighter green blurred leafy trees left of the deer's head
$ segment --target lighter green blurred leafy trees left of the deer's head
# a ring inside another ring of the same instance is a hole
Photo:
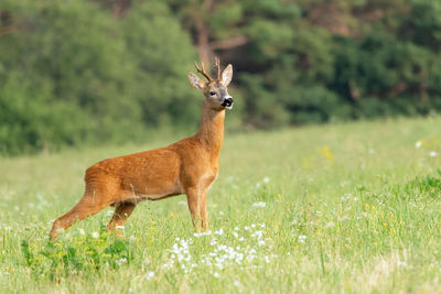
[[[17,26],[0,37],[2,152],[121,141],[197,120],[183,74],[189,37],[160,1],[135,6],[116,22],[87,1],[2,1]]]

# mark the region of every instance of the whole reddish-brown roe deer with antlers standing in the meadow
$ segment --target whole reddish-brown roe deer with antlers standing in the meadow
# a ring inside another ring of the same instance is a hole
[[[192,86],[205,96],[197,133],[165,148],[104,160],[87,168],[83,198],[71,211],[55,219],[51,240],[57,237],[60,229],[67,229],[109,205],[116,208],[107,229],[116,230],[139,202],[184,193],[195,230],[208,230],[207,192],[219,170],[225,109],[233,108],[233,97],[227,91],[233,66],[229,64],[220,74],[219,59],[215,62],[215,79],[205,72],[203,64],[202,69],[196,63],[195,67],[207,81],[187,73]]]

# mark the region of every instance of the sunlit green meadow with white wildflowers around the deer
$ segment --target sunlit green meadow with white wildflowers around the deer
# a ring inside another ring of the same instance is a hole
[[[176,196],[49,243],[87,166],[175,139],[0,159],[0,292],[440,291],[441,117],[226,133],[209,235]]]

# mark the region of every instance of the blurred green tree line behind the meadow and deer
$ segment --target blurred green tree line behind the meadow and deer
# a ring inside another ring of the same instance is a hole
[[[0,153],[194,127],[214,55],[243,128],[441,110],[440,1],[1,0]]]

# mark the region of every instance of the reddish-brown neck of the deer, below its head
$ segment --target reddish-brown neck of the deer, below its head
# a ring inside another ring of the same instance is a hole
[[[201,127],[196,139],[204,144],[208,152],[217,157],[224,141],[225,109],[215,110],[204,100],[202,107]]]

